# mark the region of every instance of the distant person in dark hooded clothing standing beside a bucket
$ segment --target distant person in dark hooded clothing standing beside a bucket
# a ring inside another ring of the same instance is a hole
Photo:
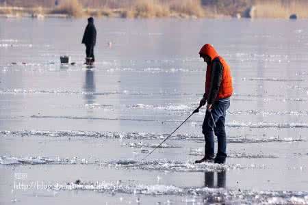
[[[86,45],[86,64],[92,65],[95,61],[94,46],[97,42],[97,29],[94,26],[94,18],[88,18],[88,25],[84,31],[82,43]]]

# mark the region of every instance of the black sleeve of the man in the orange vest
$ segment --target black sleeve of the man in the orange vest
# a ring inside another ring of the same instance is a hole
[[[207,96],[207,104],[213,104],[219,92],[222,81],[223,67],[220,61],[213,61],[211,66],[211,87],[209,88],[209,96]]]

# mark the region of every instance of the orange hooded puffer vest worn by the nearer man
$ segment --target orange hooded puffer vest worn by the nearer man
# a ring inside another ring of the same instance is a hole
[[[222,64],[223,72],[222,72],[222,80],[220,83],[220,88],[218,94],[216,96],[216,100],[222,98],[229,98],[233,94],[233,87],[232,87],[232,77],[231,77],[231,70],[230,66],[227,64],[226,61],[222,57],[218,55],[215,51],[214,47],[211,44],[205,44],[200,52],[200,55],[208,55],[211,57],[211,64],[207,65],[207,72],[205,77],[205,96],[209,96],[209,90],[211,88],[211,66],[214,59],[218,59],[220,64]]]

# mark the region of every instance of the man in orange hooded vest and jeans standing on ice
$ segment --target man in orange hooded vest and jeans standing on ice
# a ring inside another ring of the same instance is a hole
[[[207,102],[207,111],[202,125],[205,136],[205,156],[195,163],[214,162],[223,164],[227,157],[227,142],[224,122],[230,97],[233,93],[232,77],[229,65],[218,55],[211,44],[205,44],[199,52],[200,57],[207,63],[205,79],[205,94],[200,106]],[[214,133],[218,139],[218,149],[214,154]]]

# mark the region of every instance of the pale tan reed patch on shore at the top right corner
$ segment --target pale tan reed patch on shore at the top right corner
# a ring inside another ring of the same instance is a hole
[[[308,18],[308,1],[281,0],[262,1],[255,5],[255,18],[289,18],[296,14],[299,18]]]

